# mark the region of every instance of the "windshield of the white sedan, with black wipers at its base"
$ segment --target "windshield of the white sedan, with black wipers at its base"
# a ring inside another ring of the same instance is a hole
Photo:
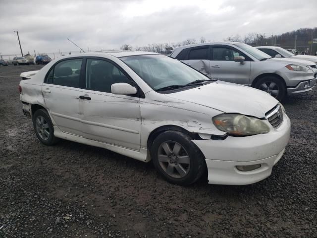
[[[121,57],[153,90],[211,80],[186,64],[162,55]]]

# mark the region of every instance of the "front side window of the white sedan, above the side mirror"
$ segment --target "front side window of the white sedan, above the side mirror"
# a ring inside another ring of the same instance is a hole
[[[88,59],[86,63],[86,88],[89,90],[111,93],[114,83],[128,83],[134,86],[118,67],[106,60]]]

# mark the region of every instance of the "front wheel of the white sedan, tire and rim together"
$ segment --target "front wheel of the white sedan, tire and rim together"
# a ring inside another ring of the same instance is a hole
[[[154,166],[167,181],[189,185],[200,179],[206,171],[205,157],[191,140],[188,134],[168,130],[153,141],[151,157]]]

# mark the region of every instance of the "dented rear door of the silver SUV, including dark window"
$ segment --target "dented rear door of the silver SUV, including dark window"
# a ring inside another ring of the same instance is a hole
[[[182,60],[184,63],[189,66],[197,69],[206,76],[211,76],[210,71],[210,47],[209,46],[199,46],[184,49],[186,51],[185,60]],[[176,57],[176,59],[178,59]]]

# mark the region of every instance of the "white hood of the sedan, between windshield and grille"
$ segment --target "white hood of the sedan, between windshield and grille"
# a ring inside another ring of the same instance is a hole
[[[204,86],[166,96],[210,107],[224,113],[238,113],[264,118],[278,101],[269,94],[251,87],[216,81]]]

